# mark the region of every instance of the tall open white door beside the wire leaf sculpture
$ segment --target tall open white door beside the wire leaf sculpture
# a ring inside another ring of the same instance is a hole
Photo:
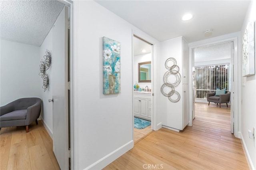
[[[62,170],[68,169],[68,8],[53,28],[52,44],[53,152]]]

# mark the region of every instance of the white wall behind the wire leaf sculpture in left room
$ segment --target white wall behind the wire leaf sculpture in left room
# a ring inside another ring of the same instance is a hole
[[[50,51],[50,53],[52,54],[52,29],[50,30],[50,32],[44,39],[44,42],[40,46],[40,59],[39,59],[38,63],[40,63],[40,61],[43,60],[44,55],[46,55],[46,53],[45,53],[46,49],[48,49]],[[52,65],[54,65],[54,63],[52,63]],[[43,101],[41,119],[44,123],[44,127],[46,127],[46,130],[48,131],[48,133],[50,134],[51,137],[52,137],[52,102],[49,103],[48,99],[52,99],[51,78],[52,78],[52,67],[54,67],[52,65],[50,66],[50,68],[48,70],[46,70],[46,73],[48,74],[48,77],[49,77],[48,89],[44,92],[44,89],[40,88],[42,101]],[[42,80],[42,78],[40,78],[40,87],[42,87],[42,85],[43,85],[43,80]]]

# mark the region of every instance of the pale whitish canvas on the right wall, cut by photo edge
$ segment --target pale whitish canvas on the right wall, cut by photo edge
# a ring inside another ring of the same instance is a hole
[[[255,46],[254,33],[255,22],[248,22],[243,36],[243,68],[242,76],[247,77],[255,74]]]

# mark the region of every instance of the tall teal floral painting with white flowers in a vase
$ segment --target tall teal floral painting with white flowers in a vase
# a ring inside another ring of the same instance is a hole
[[[120,42],[103,37],[103,94],[121,92]]]

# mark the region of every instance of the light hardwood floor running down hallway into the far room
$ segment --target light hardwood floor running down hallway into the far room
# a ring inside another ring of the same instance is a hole
[[[241,141],[230,132],[230,106],[195,104],[192,127],[154,131],[104,170],[248,170]]]

